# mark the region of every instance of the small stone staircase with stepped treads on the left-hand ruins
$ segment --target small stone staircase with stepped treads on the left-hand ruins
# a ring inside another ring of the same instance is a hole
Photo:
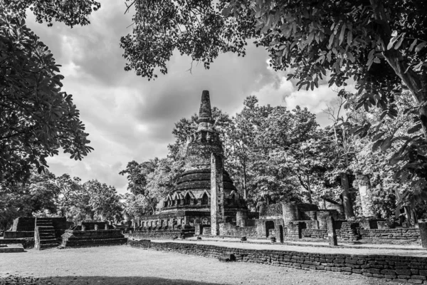
[[[34,230],[34,247],[39,250],[58,247],[52,219],[36,218],[36,229]]]

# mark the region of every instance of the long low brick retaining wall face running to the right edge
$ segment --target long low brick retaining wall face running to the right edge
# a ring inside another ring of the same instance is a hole
[[[426,280],[426,257],[400,257],[384,255],[320,254],[309,252],[289,252],[260,249],[239,249],[206,244],[183,244],[174,242],[151,242],[147,239],[128,241],[131,247],[154,249],[166,252],[219,258],[232,253],[236,261],[293,267],[297,269],[337,271],[342,274],[394,279],[416,284]],[[406,270],[399,266],[405,264]],[[354,267],[359,266],[359,267]],[[422,269],[422,270],[418,270]]]

